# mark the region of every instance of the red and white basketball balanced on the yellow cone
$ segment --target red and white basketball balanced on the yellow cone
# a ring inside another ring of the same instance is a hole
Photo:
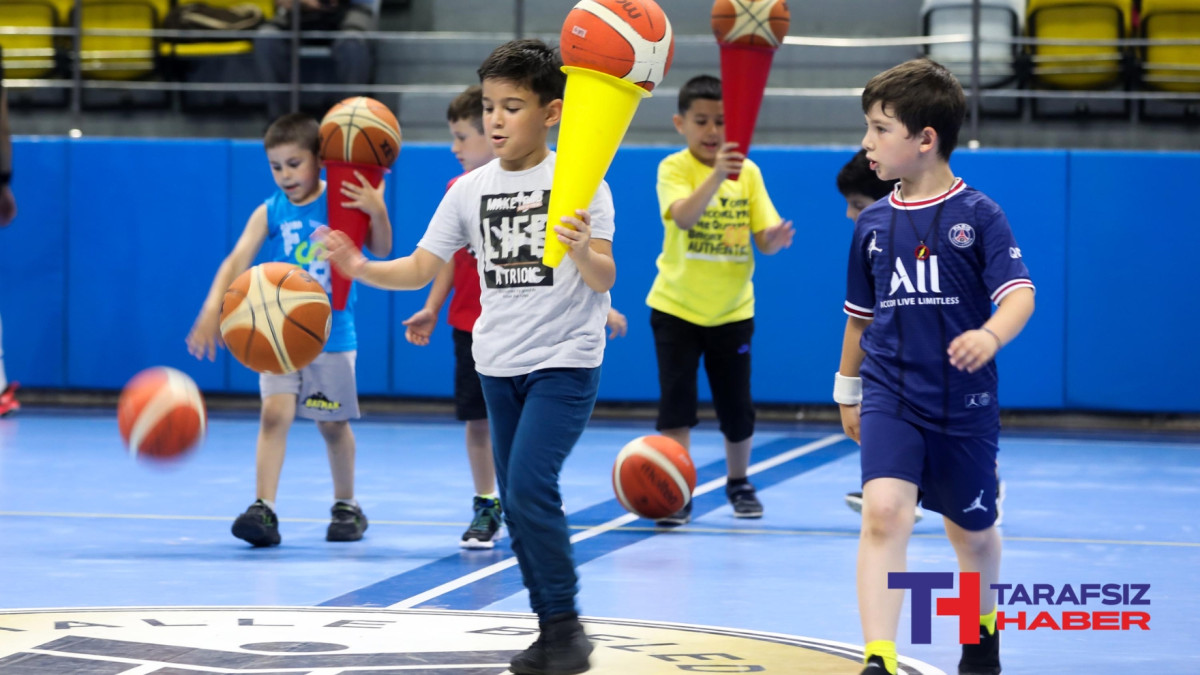
[[[580,0],[563,22],[563,65],[653,91],[671,70],[674,35],[654,0]]]

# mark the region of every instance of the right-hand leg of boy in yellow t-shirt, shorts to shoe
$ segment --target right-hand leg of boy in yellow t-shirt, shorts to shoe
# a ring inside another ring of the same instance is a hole
[[[750,341],[754,319],[706,328],[704,371],[713,407],[725,436],[725,495],[737,518],[762,518],[762,503],[746,472],[754,447],[754,400],[750,396]]]

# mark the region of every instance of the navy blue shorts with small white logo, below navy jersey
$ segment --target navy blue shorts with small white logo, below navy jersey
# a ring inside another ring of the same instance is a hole
[[[864,485],[899,478],[917,485],[923,507],[964,530],[996,522],[998,434],[949,436],[876,412],[863,416],[860,429]]]

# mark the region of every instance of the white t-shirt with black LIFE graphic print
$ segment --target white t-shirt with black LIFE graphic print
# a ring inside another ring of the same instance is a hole
[[[554,153],[518,172],[499,160],[460,178],[418,244],[449,261],[470,246],[479,261],[480,305],[475,370],[512,377],[547,368],[598,368],[604,360],[608,293],[583,282],[570,256],[541,263],[554,177]],[[592,204],[592,238],[612,241],[612,192],[600,184]]]

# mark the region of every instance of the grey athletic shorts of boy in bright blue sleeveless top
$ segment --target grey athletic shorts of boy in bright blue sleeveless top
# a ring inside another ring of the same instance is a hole
[[[359,392],[354,378],[358,352],[322,352],[305,368],[287,375],[259,375],[263,398],[295,394],[296,417],[317,422],[358,419]]]

